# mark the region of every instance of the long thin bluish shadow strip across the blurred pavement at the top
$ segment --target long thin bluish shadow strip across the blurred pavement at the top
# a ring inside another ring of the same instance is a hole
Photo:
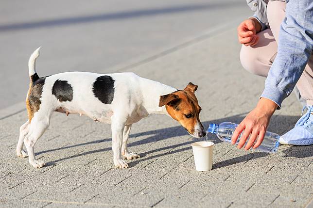
[[[44,28],[44,27],[67,26],[67,25],[83,24],[83,23],[89,23],[89,22],[110,21],[110,20],[117,20],[117,19],[130,19],[130,18],[138,18],[142,16],[157,16],[157,15],[166,15],[166,14],[173,14],[173,13],[199,11],[199,10],[214,10],[218,8],[225,9],[227,7],[242,7],[243,5],[244,5],[244,2],[230,4],[228,2],[220,1],[218,3],[211,2],[211,3],[206,3],[206,4],[189,4],[189,5],[184,5],[184,6],[142,9],[142,10],[124,11],[124,12],[117,12],[117,13],[98,14],[98,15],[91,15],[91,16],[66,17],[66,18],[51,19],[51,20],[49,19],[49,20],[40,20],[40,21],[33,21],[33,22],[0,25],[0,32],[15,31],[15,30],[29,30],[29,29]]]

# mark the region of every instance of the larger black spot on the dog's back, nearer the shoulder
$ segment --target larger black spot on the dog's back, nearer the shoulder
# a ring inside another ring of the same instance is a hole
[[[114,98],[114,80],[104,75],[98,77],[92,85],[92,92],[104,104],[110,104]]]

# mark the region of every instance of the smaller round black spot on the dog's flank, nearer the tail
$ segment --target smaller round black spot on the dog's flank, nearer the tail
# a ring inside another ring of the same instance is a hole
[[[60,102],[72,101],[73,88],[66,80],[56,80],[52,87],[52,95]]]

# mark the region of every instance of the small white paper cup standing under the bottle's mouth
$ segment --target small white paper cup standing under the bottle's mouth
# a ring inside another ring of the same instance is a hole
[[[195,142],[191,144],[194,164],[197,171],[209,171],[213,163],[213,146],[212,142]]]

